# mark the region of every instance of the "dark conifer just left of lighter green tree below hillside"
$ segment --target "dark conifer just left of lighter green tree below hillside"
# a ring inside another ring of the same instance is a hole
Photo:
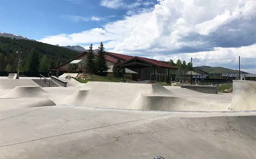
[[[39,65],[39,54],[35,48],[29,51],[28,57],[26,59],[25,70],[29,72],[37,72]]]

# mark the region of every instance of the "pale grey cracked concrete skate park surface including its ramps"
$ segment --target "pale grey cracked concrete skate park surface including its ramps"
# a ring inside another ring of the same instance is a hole
[[[255,82],[205,94],[72,79],[42,88],[23,79],[0,78],[1,159],[256,158]]]

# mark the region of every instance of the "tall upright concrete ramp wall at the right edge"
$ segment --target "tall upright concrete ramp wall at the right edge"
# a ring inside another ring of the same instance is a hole
[[[256,81],[233,80],[233,94],[229,110],[256,110]]]

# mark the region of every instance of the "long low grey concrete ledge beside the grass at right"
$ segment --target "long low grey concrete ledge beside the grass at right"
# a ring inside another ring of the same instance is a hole
[[[218,94],[217,85],[189,85],[181,84],[181,88],[191,89],[197,92],[209,93],[209,94]]]

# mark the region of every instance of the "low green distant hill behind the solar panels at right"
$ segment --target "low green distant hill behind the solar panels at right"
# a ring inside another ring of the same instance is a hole
[[[210,67],[210,66],[200,66],[193,67],[194,71],[199,74],[235,74],[239,73],[239,70],[232,70],[224,67]],[[246,74],[246,72],[240,71],[241,74]]]

